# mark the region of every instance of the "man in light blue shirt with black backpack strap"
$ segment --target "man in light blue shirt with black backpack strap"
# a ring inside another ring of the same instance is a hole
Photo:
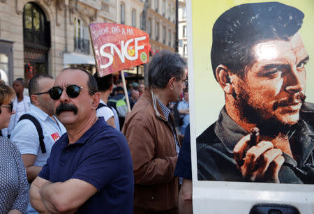
[[[44,150],[40,146],[36,125],[29,119],[19,121],[10,137],[22,154],[29,183],[38,176],[43,165],[47,162],[54,143],[66,132],[66,128],[54,116],[54,100],[50,98],[48,91],[53,84],[54,79],[46,74],[35,75],[29,81],[31,107],[26,114],[33,116],[40,124],[40,128],[43,130]],[[27,213],[37,212],[29,204]]]

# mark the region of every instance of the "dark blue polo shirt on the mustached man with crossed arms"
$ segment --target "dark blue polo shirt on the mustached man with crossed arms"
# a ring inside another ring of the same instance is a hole
[[[38,175],[55,182],[86,181],[98,192],[77,213],[133,213],[133,162],[126,138],[103,117],[75,144],[64,134],[52,146],[50,158]]]

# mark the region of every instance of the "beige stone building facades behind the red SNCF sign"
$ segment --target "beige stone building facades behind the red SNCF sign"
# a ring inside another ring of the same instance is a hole
[[[174,50],[174,0],[151,0],[151,52]],[[141,0],[0,0],[0,75],[12,84],[62,68],[96,71],[88,25],[121,23],[141,28]]]

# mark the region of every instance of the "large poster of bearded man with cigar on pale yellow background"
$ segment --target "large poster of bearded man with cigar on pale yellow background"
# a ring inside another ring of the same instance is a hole
[[[198,181],[313,184],[314,1],[191,11]]]

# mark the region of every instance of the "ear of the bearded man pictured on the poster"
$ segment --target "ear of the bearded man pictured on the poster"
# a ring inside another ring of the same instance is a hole
[[[221,88],[223,88],[223,91],[225,91],[225,93],[231,94],[234,88],[230,75],[231,72],[230,69],[227,68],[227,66],[224,66],[222,64],[217,66],[216,68],[217,82],[220,84]]]

